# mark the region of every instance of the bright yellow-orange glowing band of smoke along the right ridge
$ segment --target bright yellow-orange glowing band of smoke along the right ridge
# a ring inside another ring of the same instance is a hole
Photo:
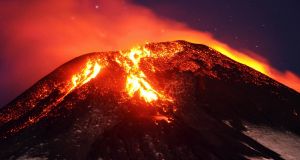
[[[220,42],[209,33],[203,33],[200,31],[195,31],[188,29],[186,27],[181,28],[182,30],[176,30],[175,33],[171,35],[165,35],[163,39],[184,39],[189,42],[199,43],[207,45],[221,54],[239,62],[247,65],[274,80],[300,92],[300,77],[291,71],[281,72],[276,68],[272,67],[268,60],[258,56],[258,54],[250,52],[241,52],[239,50],[229,47],[227,44]],[[172,32],[172,31],[171,31]],[[251,55],[251,56],[250,56]]]

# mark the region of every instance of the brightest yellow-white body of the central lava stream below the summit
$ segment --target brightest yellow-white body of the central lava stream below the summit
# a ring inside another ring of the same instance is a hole
[[[136,47],[128,52],[120,52],[120,56],[116,58],[116,62],[122,66],[126,73],[126,92],[130,97],[135,94],[145,100],[147,103],[157,101],[172,101],[162,93],[156,91],[148,82],[144,72],[140,69],[140,61],[142,58],[151,57],[151,52],[145,47]]]

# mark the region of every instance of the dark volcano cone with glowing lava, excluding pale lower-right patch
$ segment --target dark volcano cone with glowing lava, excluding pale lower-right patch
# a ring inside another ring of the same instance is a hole
[[[300,94],[185,41],[75,58],[0,112],[0,159],[281,159],[246,124],[300,133]]]

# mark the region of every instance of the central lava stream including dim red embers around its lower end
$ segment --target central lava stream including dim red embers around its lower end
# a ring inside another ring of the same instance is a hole
[[[154,89],[154,87],[150,85],[149,79],[140,68],[140,62],[142,59],[145,60],[148,68],[145,68],[144,66],[143,69],[155,72],[156,69],[151,64],[151,58],[171,57],[175,54],[173,54],[173,52],[163,50],[163,52],[152,53],[146,47],[135,47],[130,51],[120,52],[120,55],[115,59],[126,72],[125,92],[130,98],[138,96],[142,101],[148,104],[144,106],[146,108],[138,107],[142,110],[137,109],[138,113],[136,114],[138,115],[144,112],[144,114],[151,117],[156,124],[160,121],[165,121],[167,123],[172,122],[173,118],[171,115],[175,111],[172,109],[173,107],[171,107],[173,105],[173,99]],[[151,107],[153,110],[151,111],[148,106],[153,106]]]

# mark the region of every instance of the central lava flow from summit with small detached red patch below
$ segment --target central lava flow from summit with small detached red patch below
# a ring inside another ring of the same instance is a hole
[[[176,49],[176,47],[174,47]],[[179,50],[173,51],[173,53],[178,52]],[[170,54],[170,53],[168,53]],[[161,53],[160,56],[167,56],[166,53]],[[164,95],[162,92],[155,90],[147,80],[147,76],[140,68],[140,61],[142,58],[155,58],[157,55],[152,54],[152,52],[144,46],[138,46],[132,48],[130,51],[122,52],[116,57],[115,61],[124,68],[127,77],[126,77],[126,86],[125,91],[130,98],[133,98],[135,95],[138,95],[146,103],[154,106],[154,102],[160,100],[161,102],[172,103],[173,99]],[[150,69],[152,72],[155,72],[153,66]],[[157,104],[156,104],[157,106]],[[158,105],[160,106],[160,105]],[[166,112],[166,108],[161,107],[162,111]],[[173,110],[175,111],[175,110]],[[172,117],[165,116],[159,112],[156,115],[152,116],[153,120],[156,121],[165,121],[170,123]]]

